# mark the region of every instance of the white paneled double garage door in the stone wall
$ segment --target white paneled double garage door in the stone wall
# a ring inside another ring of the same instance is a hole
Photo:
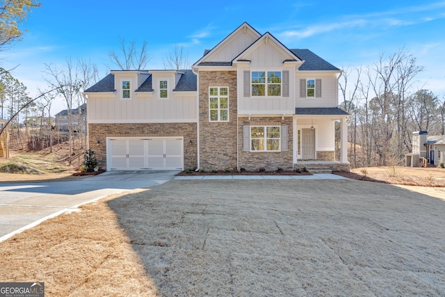
[[[183,170],[182,138],[109,138],[108,170]]]

